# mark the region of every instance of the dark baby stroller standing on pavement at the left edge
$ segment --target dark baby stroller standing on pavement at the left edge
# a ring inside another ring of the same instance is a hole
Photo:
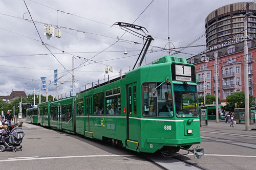
[[[20,143],[22,143],[24,135],[22,123],[8,126],[0,137],[0,152],[4,152],[5,149],[12,149],[12,152],[22,151]]]

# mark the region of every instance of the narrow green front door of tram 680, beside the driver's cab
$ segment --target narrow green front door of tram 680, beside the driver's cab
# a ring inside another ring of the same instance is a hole
[[[127,96],[127,140],[139,139],[139,120],[136,118],[137,115],[137,94],[136,94],[137,83],[129,84],[126,86],[126,96]]]

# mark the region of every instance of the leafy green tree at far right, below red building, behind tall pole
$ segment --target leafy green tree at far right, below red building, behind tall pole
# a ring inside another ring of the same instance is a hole
[[[226,110],[234,111],[234,104],[237,103],[237,108],[244,108],[245,107],[245,100],[244,100],[244,92],[237,92],[233,93],[226,98],[227,105],[225,106]],[[252,106],[253,97],[249,94],[249,106]]]

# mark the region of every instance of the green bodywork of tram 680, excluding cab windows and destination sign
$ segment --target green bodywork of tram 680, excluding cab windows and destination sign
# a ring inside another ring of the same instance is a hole
[[[190,147],[190,145],[199,144],[201,142],[199,116],[184,117],[183,115],[183,117],[177,117],[175,107],[173,117],[143,115],[143,83],[162,83],[168,78],[172,87],[173,99],[175,99],[174,84],[185,86],[181,81],[173,81],[171,71],[173,62],[191,66],[191,69],[193,67],[196,70],[195,66],[187,64],[184,58],[164,56],[153,61],[152,65],[131,70],[122,79],[88,89],[78,94],[76,98],[51,102],[49,107],[50,127],[100,140],[111,138],[122,141],[125,148],[137,152],[154,153],[163,147]],[[193,74],[196,75],[196,72]],[[196,87],[196,78],[195,81],[187,82],[187,86]],[[114,91],[119,88],[120,93],[114,94]],[[94,112],[95,103],[99,102],[96,99],[97,95],[100,96],[101,94],[103,97],[101,96],[100,99],[104,105],[101,107],[103,107],[104,113],[96,114],[97,112]],[[136,100],[131,104],[130,97],[134,98],[135,95]],[[195,98],[197,99],[197,95]],[[108,111],[106,103],[109,101],[118,101],[119,114],[106,114]],[[69,119],[67,119],[67,114],[63,118],[61,113],[62,106],[68,104],[72,105],[72,117]],[[130,109],[130,106],[133,107]],[[199,112],[198,106],[195,105],[195,107]],[[135,108],[136,114],[134,114]],[[188,134],[188,130],[193,130],[193,132]]]

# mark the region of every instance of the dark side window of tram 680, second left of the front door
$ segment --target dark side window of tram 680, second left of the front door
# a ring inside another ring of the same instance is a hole
[[[93,95],[93,114],[104,114],[104,92]]]

